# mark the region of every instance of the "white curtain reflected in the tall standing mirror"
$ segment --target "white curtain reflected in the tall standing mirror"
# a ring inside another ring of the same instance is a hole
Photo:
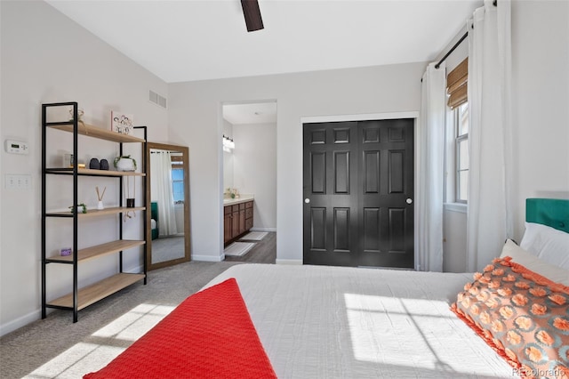
[[[157,150],[150,154],[150,195],[158,205],[159,235],[177,234],[170,151]]]

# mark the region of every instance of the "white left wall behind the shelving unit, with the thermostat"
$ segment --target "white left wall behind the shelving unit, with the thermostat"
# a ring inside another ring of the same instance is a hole
[[[101,127],[109,127],[111,109],[122,110],[134,115],[135,124],[148,125],[149,140],[167,141],[167,111],[148,102],[148,90],[166,94],[168,87],[44,2],[2,1],[0,9],[2,143],[5,139],[25,141],[30,149],[27,156],[7,154],[2,149],[2,178],[4,181],[6,173],[24,173],[30,175],[32,182],[31,189],[20,191],[4,189],[3,185],[0,194],[3,211],[0,217],[0,333],[5,334],[40,317],[41,104],[78,101],[84,109],[85,121]],[[50,142],[50,150],[55,151],[50,155],[53,162],[59,157],[57,151],[64,149],[62,141],[68,141],[68,136],[59,137],[63,134]],[[180,138],[177,141],[184,143]],[[80,158],[114,157],[116,146],[106,141],[82,139]],[[84,179],[80,198],[88,206],[96,205],[95,185],[108,185],[104,199],[117,201],[112,198],[116,182]],[[55,183],[58,189],[50,192],[50,200],[57,203],[55,206],[65,207],[69,199],[60,193],[67,189],[70,193],[70,187],[66,184],[65,189],[60,190],[61,186]],[[116,226],[112,228],[110,223],[88,222],[82,231],[82,244],[107,242],[106,234],[116,234]],[[133,227],[132,233],[137,235],[140,231],[140,227]],[[68,226],[52,224],[48,233],[48,237],[60,238],[52,243],[51,249],[62,243],[68,245],[71,239]],[[136,255],[125,262],[127,269],[136,269],[139,265]],[[67,292],[72,277],[70,270],[50,266],[54,275],[48,294],[53,298]],[[80,270],[80,280],[92,282],[113,270],[116,270],[113,257],[85,263],[84,270]]]

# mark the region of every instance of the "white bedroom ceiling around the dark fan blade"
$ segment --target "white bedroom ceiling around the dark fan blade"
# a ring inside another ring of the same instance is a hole
[[[46,0],[166,83],[435,60],[482,0]]]

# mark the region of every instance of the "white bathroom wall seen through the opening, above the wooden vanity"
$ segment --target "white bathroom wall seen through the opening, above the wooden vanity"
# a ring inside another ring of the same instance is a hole
[[[276,230],[276,124],[233,125],[234,186],[253,194],[253,230]]]

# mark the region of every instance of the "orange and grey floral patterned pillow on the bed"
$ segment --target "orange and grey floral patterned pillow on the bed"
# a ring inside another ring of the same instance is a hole
[[[569,287],[509,257],[474,279],[452,310],[522,377],[569,378]]]

